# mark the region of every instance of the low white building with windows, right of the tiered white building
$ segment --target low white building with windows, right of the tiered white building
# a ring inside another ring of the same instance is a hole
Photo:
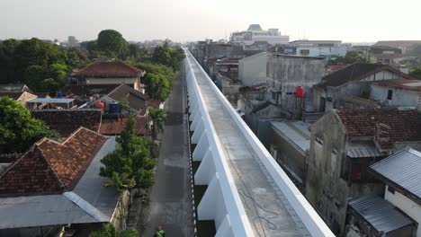
[[[289,44],[296,48],[296,55],[309,57],[344,57],[349,45],[343,44],[341,40],[295,40]]]

